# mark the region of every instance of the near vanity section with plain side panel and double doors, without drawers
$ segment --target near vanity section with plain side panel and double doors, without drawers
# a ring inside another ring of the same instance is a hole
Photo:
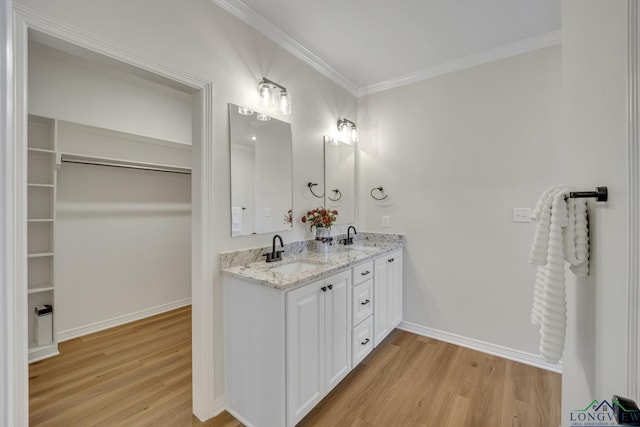
[[[290,291],[224,279],[229,412],[294,426],[351,371],[351,270]]]

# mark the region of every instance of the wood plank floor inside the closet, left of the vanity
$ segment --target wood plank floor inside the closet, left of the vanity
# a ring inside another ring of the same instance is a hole
[[[191,307],[60,344],[29,367],[31,426],[241,426],[191,415]]]

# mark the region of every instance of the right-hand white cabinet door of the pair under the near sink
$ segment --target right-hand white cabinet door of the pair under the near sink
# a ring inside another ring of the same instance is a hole
[[[351,370],[351,271],[326,279],[325,286],[325,393],[328,393]]]

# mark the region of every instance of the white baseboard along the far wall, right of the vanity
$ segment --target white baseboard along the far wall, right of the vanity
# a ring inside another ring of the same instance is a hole
[[[429,328],[427,326],[422,326],[411,322],[400,323],[400,325],[398,325],[398,329],[402,329],[403,331],[407,332],[413,332],[414,334],[433,338],[439,341],[448,342],[450,344],[459,345],[461,347],[470,348],[471,350],[481,351],[483,353],[502,357],[504,359],[513,360],[515,362],[524,363],[525,365],[535,366],[536,368],[545,369],[547,371],[556,372],[558,374],[562,373],[561,363],[553,365],[551,363],[545,362],[542,357],[536,354],[514,350],[473,338],[463,337],[461,335],[452,334],[450,332]]]

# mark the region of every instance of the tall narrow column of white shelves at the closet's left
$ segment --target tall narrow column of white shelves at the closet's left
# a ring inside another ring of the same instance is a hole
[[[56,122],[29,116],[27,139],[27,293],[29,361],[58,354],[55,321],[52,342],[35,341],[34,309],[54,304],[54,224],[56,216]]]

